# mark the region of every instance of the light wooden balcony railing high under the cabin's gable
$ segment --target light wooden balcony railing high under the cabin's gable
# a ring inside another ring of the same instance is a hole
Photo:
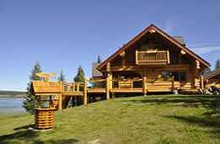
[[[136,51],[137,65],[166,65],[170,63],[169,51]]]

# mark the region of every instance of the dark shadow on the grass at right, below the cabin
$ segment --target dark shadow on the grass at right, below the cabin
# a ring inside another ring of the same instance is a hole
[[[144,103],[150,105],[166,105],[173,107],[204,107],[206,110],[199,116],[192,115],[173,115],[165,116],[171,119],[177,119],[189,124],[199,125],[201,127],[211,128],[210,132],[220,136],[220,96],[219,95],[172,95],[172,96],[149,96],[144,99],[132,99],[129,102]]]

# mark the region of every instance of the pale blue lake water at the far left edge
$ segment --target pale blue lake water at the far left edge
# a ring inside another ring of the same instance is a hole
[[[21,113],[25,112],[22,107],[23,98],[0,98],[0,113]]]

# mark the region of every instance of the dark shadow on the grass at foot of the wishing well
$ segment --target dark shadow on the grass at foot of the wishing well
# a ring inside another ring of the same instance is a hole
[[[33,144],[75,144],[78,142],[76,139],[59,139],[59,140],[40,140],[39,135],[41,132],[27,130],[30,126],[26,125],[15,128],[15,133],[0,136],[0,144],[12,143],[33,143]],[[25,129],[25,130],[24,130]],[[43,132],[46,133],[46,132]]]

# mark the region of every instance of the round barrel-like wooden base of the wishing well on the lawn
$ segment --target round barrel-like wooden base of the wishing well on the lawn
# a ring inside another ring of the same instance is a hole
[[[35,109],[35,128],[52,129],[54,128],[54,108]]]

